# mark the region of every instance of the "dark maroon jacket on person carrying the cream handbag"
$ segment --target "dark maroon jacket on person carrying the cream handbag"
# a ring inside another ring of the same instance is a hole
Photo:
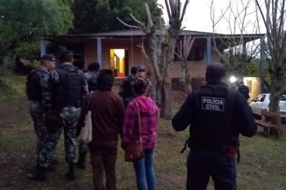
[[[89,106],[87,103],[89,101]],[[117,141],[122,130],[124,105],[120,96],[113,91],[96,90],[86,96],[82,103],[82,113],[77,123],[77,134],[87,110],[92,111],[92,145],[95,141]]]

